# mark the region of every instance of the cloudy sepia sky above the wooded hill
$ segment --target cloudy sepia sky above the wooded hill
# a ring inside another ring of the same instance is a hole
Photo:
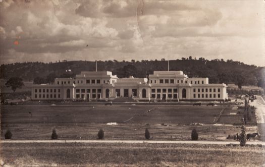
[[[182,57],[265,66],[264,1],[0,0],[0,61]]]

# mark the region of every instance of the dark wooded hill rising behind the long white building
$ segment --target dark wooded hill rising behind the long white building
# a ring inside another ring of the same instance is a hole
[[[81,71],[95,71],[96,63],[88,61],[63,61],[57,63],[27,62],[1,65],[1,79],[20,77],[24,81],[33,81],[36,77],[52,81],[55,77],[74,77]],[[118,62],[97,61],[97,71],[112,71],[119,78],[134,76],[146,77],[153,71],[167,71],[168,61]],[[246,65],[232,60],[194,60],[191,57],[182,60],[170,60],[170,71],[183,71],[189,77],[208,77],[209,83],[235,83],[265,88],[265,67]]]

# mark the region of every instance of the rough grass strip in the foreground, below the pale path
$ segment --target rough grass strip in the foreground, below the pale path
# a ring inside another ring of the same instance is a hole
[[[264,148],[193,144],[2,143],[14,166],[262,166]]]

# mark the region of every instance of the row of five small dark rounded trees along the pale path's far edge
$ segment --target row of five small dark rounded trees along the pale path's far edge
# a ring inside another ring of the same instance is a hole
[[[148,129],[146,128],[145,129],[145,139],[150,139],[150,132],[148,131]],[[191,132],[191,140],[198,140],[198,133],[196,131],[196,129],[194,128]],[[12,138],[12,133],[10,130],[7,130],[6,134],[5,134],[5,139],[11,139]],[[100,129],[97,133],[97,138],[98,139],[103,139],[104,138],[104,131],[102,129]],[[56,133],[56,129],[53,129],[52,130],[52,133],[51,133],[51,139],[55,140],[55,139],[58,139],[58,135]]]

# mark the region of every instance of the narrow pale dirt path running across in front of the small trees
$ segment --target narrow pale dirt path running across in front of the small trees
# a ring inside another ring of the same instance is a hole
[[[156,143],[156,144],[239,144],[239,141],[166,141],[166,140],[2,140],[0,143]],[[247,144],[265,142],[250,141]]]

